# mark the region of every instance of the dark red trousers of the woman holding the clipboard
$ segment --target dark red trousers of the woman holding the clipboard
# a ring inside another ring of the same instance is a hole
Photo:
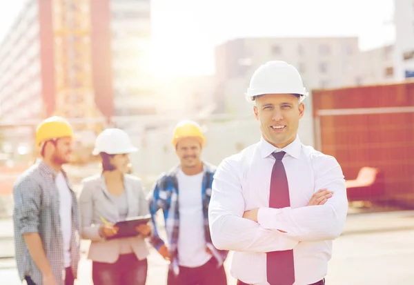
[[[130,253],[119,255],[113,264],[92,262],[92,280],[94,285],[145,285],[147,270],[147,259]]]

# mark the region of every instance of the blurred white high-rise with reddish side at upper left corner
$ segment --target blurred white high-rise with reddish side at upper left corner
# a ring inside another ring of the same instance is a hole
[[[45,2],[28,2],[0,46],[2,119],[39,117],[53,104],[54,83],[46,76],[53,72],[48,61],[52,59],[52,30],[46,25],[52,16],[50,8],[44,14]]]

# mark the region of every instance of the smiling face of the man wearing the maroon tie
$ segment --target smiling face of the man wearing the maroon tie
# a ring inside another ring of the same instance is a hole
[[[295,140],[305,106],[292,94],[266,94],[255,99],[255,117],[263,138],[277,148]]]

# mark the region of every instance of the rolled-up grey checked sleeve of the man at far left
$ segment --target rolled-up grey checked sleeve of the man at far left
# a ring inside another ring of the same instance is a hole
[[[39,215],[41,209],[41,188],[28,178],[14,186],[14,215],[21,235],[39,233]]]

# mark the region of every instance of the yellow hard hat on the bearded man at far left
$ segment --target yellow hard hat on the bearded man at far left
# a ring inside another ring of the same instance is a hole
[[[40,148],[43,141],[59,139],[60,137],[73,137],[72,126],[62,117],[50,117],[37,126],[36,146]]]

